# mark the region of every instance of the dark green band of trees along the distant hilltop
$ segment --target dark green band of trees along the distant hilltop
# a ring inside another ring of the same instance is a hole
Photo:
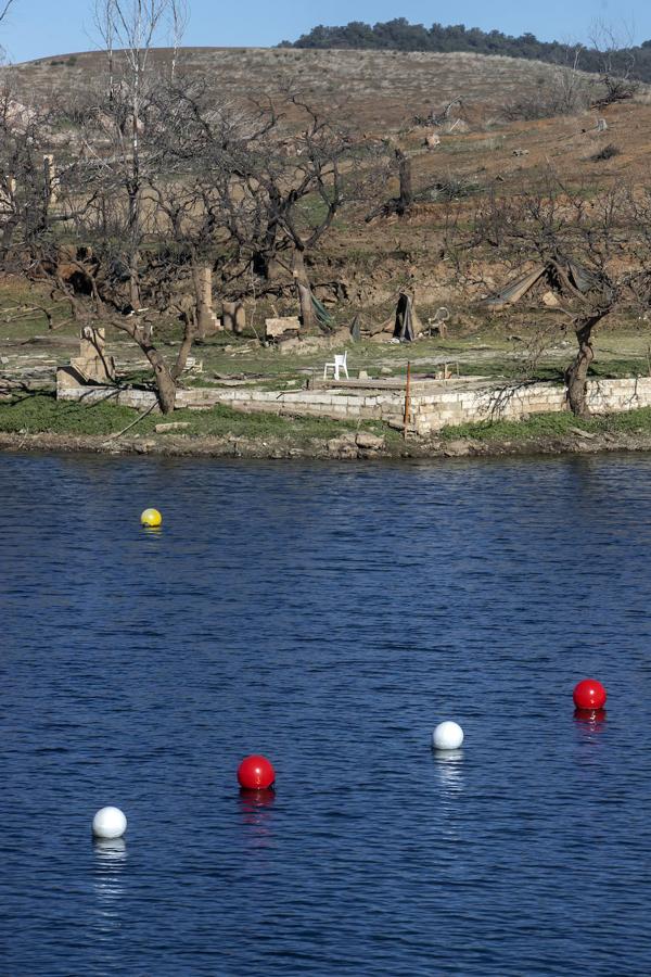
[[[319,24],[298,40],[282,41],[289,48],[353,48],[372,51],[427,51],[447,54],[465,51],[472,54],[501,54],[523,58],[527,61],[545,61],[551,64],[572,64],[575,56],[585,72],[601,73],[608,64],[610,71],[627,73],[642,81],[651,81],[651,40],[636,47],[604,45],[604,50],[567,45],[559,41],[540,41],[533,34],[511,37],[501,30],[485,31],[463,24],[444,27],[442,24],[410,24],[405,17],[371,26],[352,21],[346,26],[324,27]]]

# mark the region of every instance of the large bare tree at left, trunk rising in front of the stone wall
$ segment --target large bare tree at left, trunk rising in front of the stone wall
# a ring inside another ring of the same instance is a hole
[[[174,409],[176,386],[196,334],[200,262],[219,252],[214,202],[204,201],[201,166],[178,145],[192,138],[190,120],[176,109],[176,92],[158,83],[141,102],[139,131],[139,292],[131,303],[131,210],[122,144],[116,132],[129,103],[104,92],[59,141],[55,194],[48,187],[43,154],[62,118],[36,110],[0,111],[0,256],[5,268],[49,283],[68,302],[81,328],[98,321],[126,332],[149,360],[164,411]],[[0,110],[2,104],[0,104]],[[175,114],[176,112],[176,114]],[[190,293],[190,294],[188,294]],[[189,301],[188,301],[189,299]],[[156,346],[154,327],[182,322],[171,363]]]

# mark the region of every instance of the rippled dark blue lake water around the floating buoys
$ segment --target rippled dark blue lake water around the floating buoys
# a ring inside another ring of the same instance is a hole
[[[651,973],[651,457],[4,455],[0,556],[1,975]]]

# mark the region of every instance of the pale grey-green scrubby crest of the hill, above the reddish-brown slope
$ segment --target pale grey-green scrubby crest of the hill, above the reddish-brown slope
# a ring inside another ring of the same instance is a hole
[[[161,61],[165,49],[154,52]],[[523,99],[545,99],[567,71],[558,66],[470,53],[299,49],[186,48],[186,72],[214,80],[215,99],[246,101],[278,96],[288,86],[315,104],[334,106],[360,129],[398,128],[413,116],[439,110],[461,97],[471,120],[486,125]],[[100,52],[66,54],[26,62],[10,72],[21,101],[75,98],[104,67]],[[589,75],[577,76],[586,87]]]

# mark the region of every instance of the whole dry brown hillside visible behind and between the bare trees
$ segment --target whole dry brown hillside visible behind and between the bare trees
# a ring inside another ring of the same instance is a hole
[[[169,51],[153,51],[152,58],[162,67]],[[570,189],[587,202],[589,211],[610,188],[633,185],[641,192],[648,179],[651,111],[643,87],[635,99],[593,107],[599,98],[593,76],[538,62],[469,53],[204,48],[182,51],[181,64],[188,74],[208,78],[216,105],[253,100],[264,103],[271,98],[280,106],[283,90],[286,94],[290,88],[372,137],[365,142],[382,147],[386,161],[382,175],[369,181],[366,196],[350,196],[350,206],[337,212],[328,233],[305,262],[312,294],[339,325],[348,323],[356,314],[366,326],[382,325],[395,312],[400,290],[407,288],[414,293],[421,321],[436,316],[442,305],[450,310],[452,343],[472,346],[481,334],[493,337],[499,348],[505,343],[524,344],[545,313],[532,313],[526,305],[493,310],[478,305],[477,300],[520,277],[522,268],[529,267],[536,257],[535,243],[529,240],[516,254],[502,254],[487,239],[475,244],[471,232],[476,226],[477,207],[489,208],[496,201],[499,213],[502,204],[505,208],[518,206],[514,198],[519,194],[547,189],[552,195],[563,196]],[[42,127],[44,138],[52,140],[48,151],[60,153],[58,162],[65,162],[66,153],[74,157],[74,110],[98,105],[93,91],[106,91],[104,69],[101,52],[43,59],[3,69],[24,104],[40,101],[67,106],[63,114],[55,115],[56,125]],[[564,113],[554,113],[553,99],[572,92],[579,96],[576,102],[567,103]],[[443,124],[427,120],[433,111],[439,115],[454,100]],[[286,107],[285,102],[281,110]],[[388,134],[395,138],[376,138]],[[56,149],[58,138],[61,150]],[[282,138],[284,142],[284,132]],[[382,204],[397,193],[396,147],[411,164],[413,204],[403,219],[393,214],[367,220],[373,212],[381,213]],[[197,168],[197,173],[204,172],[209,175],[209,167]],[[306,213],[310,206],[314,200],[308,199]],[[25,213],[30,212],[26,208]],[[123,239],[115,240],[122,246]],[[627,248],[624,238],[624,262]],[[460,251],[465,276],[457,262]],[[267,316],[296,312],[295,283],[286,264],[272,279],[263,280],[264,272],[259,277],[253,286],[248,276],[245,280],[224,278],[222,282],[214,278],[216,303],[243,296],[258,332]],[[51,299],[41,294],[37,284],[20,277],[4,282],[8,307],[40,309]],[[52,308],[58,317],[64,315],[61,303]],[[42,313],[39,316],[38,328],[42,329]],[[638,331],[644,328],[640,321],[626,309],[611,317],[613,327],[629,330],[636,343]],[[69,331],[75,327],[69,323],[66,328]],[[178,338],[176,319],[165,328],[168,331],[162,331],[162,337],[170,341]],[[554,364],[559,357],[566,358],[567,341],[562,342],[554,353]],[[374,350],[369,348],[371,357]],[[516,357],[524,348],[518,347]],[[623,347],[616,348],[623,352]],[[639,348],[638,343],[636,357]],[[451,346],[450,352],[457,350]],[[225,355],[239,354],[229,344]],[[232,370],[234,364],[229,364]],[[218,368],[212,366],[218,372],[225,369],[221,363]],[[486,365],[482,363],[481,368],[485,371]],[[495,370],[501,375],[502,365]]]

